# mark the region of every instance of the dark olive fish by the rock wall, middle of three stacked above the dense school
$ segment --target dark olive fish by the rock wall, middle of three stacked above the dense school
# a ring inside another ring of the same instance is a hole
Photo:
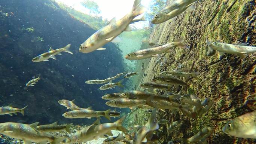
[[[188,84],[186,82],[184,82],[183,80],[178,79],[177,77],[174,76],[158,76],[153,78],[153,82],[155,83],[161,83],[161,84],[167,84],[167,85],[180,85],[182,87],[188,87]]]

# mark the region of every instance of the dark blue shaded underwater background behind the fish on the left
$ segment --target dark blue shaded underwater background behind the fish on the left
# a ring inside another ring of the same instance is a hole
[[[95,30],[73,19],[64,10],[54,10],[44,3],[51,2],[0,1],[0,10],[8,13],[8,16],[0,15],[0,106],[11,104],[22,108],[28,105],[25,116],[0,115],[0,123],[23,120],[23,123],[47,124],[59,121],[91,124],[94,120],[61,117],[67,109],[59,105],[58,100],[75,99],[79,107],[109,109],[101,96],[122,89],[101,91],[101,85],[85,84],[85,80],[106,79],[124,72],[121,52],[113,43],[104,46],[107,48],[104,51],[96,50],[89,54],[78,52],[79,45]],[[22,30],[26,27],[33,27],[35,30],[33,33]],[[38,36],[44,41],[37,41]],[[71,43],[70,51],[74,55],[63,52],[62,55],[56,55],[57,60],[31,61],[35,56],[46,52],[50,46],[57,49],[68,43]],[[41,74],[42,80],[36,86],[24,89],[25,83],[38,74]],[[105,118],[101,121],[108,122]]]

